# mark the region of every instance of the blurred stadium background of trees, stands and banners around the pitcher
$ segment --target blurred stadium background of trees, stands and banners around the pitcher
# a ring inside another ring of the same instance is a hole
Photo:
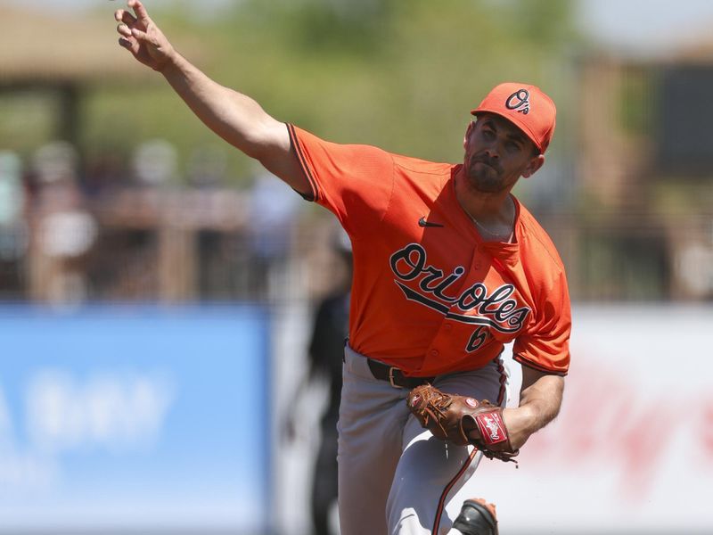
[[[456,162],[490,87],[552,95],[516,193],[568,268],[572,370],[482,495],[513,535],[713,532],[713,4],[145,4],[336,142]],[[119,5],[0,1],[0,533],[337,533],[348,245],[117,45]]]

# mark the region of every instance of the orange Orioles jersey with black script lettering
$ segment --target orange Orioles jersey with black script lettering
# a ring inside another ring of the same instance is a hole
[[[430,376],[485,366],[514,340],[521,364],[567,373],[565,271],[520,202],[513,243],[487,242],[455,197],[461,165],[288,128],[311,200],[339,218],[352,242],[354,350]]]

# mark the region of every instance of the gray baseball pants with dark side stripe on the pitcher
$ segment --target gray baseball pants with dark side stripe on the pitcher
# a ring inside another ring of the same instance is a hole
[[[438,535],[463,501],[485,494],[471,475],[480,452],[438,440],[411,416],[407,389],[375,379],[367,359],[345,348],[339,430],[341,535]],[[499,360],[471,372],[439,375],[441,391],[504,405],[507,376]]]

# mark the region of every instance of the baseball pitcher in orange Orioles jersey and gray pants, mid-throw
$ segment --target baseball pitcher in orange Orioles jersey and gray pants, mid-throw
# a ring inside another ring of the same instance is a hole
[[[133,13],[115,13],[119,44],[218,136],[331,210],[351,239],[343,535],[496,533],[494,509],[469,499],[471,475],[483,455],[517,455],[557,415],[570,363],[561,259],[511,193],[545,163],[552,100],[537,86],[496,86],[471,111],[459,164],[333,144],[209,79],[139,0],[128,5]],[[522,386],[519,406],[503,408],[508,342]]]

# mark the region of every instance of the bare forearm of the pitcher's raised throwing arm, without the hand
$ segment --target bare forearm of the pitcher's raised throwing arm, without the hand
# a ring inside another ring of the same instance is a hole
[[[276,140],[289,141],[286,132],[284,136],[275,136],[275,128],[284,130],[283,124],[257,102],[217,84],[180,54],[174,53],[160,72],[208,128],[248,156],[263,160],[276,148],[270,146]]]

